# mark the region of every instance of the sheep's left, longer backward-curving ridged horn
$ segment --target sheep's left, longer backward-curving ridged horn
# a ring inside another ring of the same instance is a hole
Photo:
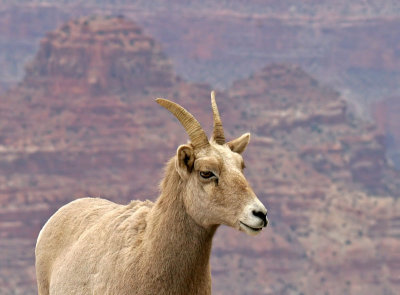
[[[191,113],[170,100],[157,98],[156,102],[169,110],[185,128],[194,148],[202,148],[209,145],[208,138],[200,123]]]

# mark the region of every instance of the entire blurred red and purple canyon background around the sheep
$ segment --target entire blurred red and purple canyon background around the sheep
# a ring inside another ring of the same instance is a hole
[[[400,2],[0,0],[0,294],[78,197],[155,200],[187,135],[250,131],[256,238],[221,227],[214,294],[400,294]]]

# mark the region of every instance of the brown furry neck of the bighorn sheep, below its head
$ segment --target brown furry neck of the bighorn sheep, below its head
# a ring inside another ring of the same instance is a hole
[[[165,293],[209,294],[211,244],[217,227],[206,229],[195,223],[184,209],[183,197],[180,189],[162,194],[149,212],[144,244],[154,269],[147,272],[152,284]]]

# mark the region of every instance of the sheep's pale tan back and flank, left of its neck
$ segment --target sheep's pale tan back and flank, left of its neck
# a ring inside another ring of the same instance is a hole
[[[119,205],[99,198],[75,200],[60,208],[45,224],[36,245],[38,284],[57,290],[89,292],[107,284],[122,254],[140,246],[150,201]],[[67,285],[69,285],[67,287]],[[60,287],[61,286],[61,287]],[[88,288],[87,290],[82,288]],[[41,293],[40,293],[41,294]],[[65,294],[65,293],[64,293]]]

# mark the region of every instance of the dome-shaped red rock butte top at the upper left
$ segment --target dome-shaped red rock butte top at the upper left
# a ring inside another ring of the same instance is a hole
[[[171,86],[160,45],[123,17],[82,18],[48,33],[27,68],[27,85],[53,94],[110,95]]]

